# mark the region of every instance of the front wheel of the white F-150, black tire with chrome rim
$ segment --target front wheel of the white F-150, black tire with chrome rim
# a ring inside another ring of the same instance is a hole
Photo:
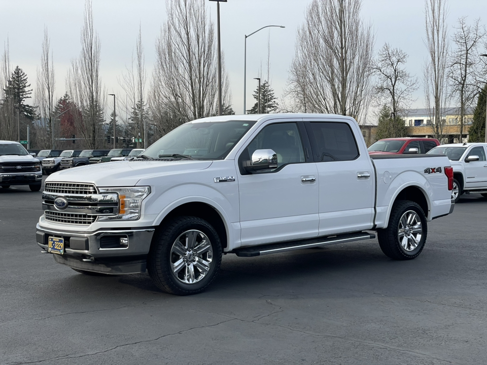
[[[191,241],[190,234],[194,235],[191,236],[194,237],[192,244],[188,244],[188,241]],[[206,239],[209,245],[204,246],[205,252],[199,254],[197,248],[203,250],[203,241],[206,242]],[[186,243],[178,246],[178,242]],[[173,263],[178,262],[179,270],[173,266]],[[163,224],[155,232],[148,255],[147,270],[161,290],[170,294],[191,295],[200,293],[215,280],[221,262],[222,245],[212,225],[198,217],[180,216]],[[201,267],[204,270],[201,270]],[[185,282],[191,273],[196,281]]]

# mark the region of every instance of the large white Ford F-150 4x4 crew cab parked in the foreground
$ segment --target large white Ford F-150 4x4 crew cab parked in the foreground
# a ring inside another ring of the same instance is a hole
[[[366,240],[410,260],[427,222],[453,211],[445,156],[369,157],[338,115],[223,116],[172,130],[135,160],[50,175],[37,242],[84,274],[148,270],[202,291],[222,253],[251,257]]]

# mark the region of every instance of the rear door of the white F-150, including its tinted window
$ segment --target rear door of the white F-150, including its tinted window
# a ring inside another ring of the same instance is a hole
[[[344,121],[305,120],[319,180],[319,235],[371,229],[375,172]]]

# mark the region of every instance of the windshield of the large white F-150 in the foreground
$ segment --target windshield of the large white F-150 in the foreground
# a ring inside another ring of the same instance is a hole
[[[142,156],[156,159],[178,154],[197,160],[223,160],[254,124],[255,121],[186,123],[152,144]]]

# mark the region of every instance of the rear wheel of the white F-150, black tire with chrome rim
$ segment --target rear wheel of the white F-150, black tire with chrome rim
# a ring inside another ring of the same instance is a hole
[[[416,228],[412,230],[411,224],[402,220],[403,217],[414,218],[411,223],[413,224],[412,227]],[[404,225],[405,223],[406,225]],[[421,223],[419,227],[418,223]],[[401,227],[403,227],[402,230]],[[410,232],[410,234],[407,234],[408,238],[404,234],[407,232]],[[412,260],[423,251],[427,234],[428,226],[423,209],[415,202],[399,200],[392,207],[387,228],[377,230],[377,239],[380,249],[387,257],[394,260]],[[399,239],[400,235],[403,236],[401,242]],[[416,244],[415,240],[411,238],[413,235],[415,235],[416,241],[419,241],[416,246],[414,246]]]

